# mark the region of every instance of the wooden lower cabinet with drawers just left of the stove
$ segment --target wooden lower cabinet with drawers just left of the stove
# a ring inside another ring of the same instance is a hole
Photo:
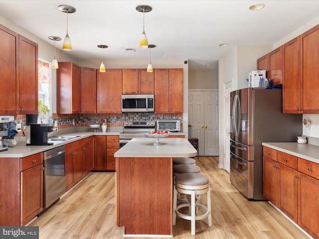
[[[94,136],[94,171],[115,171],[114,153],[120,148],[119,135]]]

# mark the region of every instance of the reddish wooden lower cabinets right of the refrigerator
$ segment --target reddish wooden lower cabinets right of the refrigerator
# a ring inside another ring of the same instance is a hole
[[[319,238],[319,164],[263,146],[263,186],[265,198]]]

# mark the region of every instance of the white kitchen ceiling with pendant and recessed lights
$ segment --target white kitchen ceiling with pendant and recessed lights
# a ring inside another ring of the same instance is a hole
[[[248,9],[256,3],[266,6]],[[76,8],[68,14],[72,57],[101,59],[97,45],[106,44],[104,59],[149,59],[149,49],[139,47],[143,13],[135,9],[148,4],[153,10],[145,13],[145,32],[157,46],[152,59],[188,60],[190,70],[217,69],[234,46],[273,44],[319,15],[319,0],[0,0],[0,15],[52,45],[48,36],[60,36],[61,49],[66,13],[60,4]]]

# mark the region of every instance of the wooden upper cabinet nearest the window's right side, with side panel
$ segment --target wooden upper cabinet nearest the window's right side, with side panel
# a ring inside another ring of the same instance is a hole
[[[56,112],[81,113],[81,69],[72,62],[59,62],[56,70]]]

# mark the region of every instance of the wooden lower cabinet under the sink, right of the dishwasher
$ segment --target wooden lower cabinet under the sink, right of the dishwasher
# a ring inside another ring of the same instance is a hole
[[[90,146],[87,139],[65,145],[65,189],[69,190],[89,174]]]

